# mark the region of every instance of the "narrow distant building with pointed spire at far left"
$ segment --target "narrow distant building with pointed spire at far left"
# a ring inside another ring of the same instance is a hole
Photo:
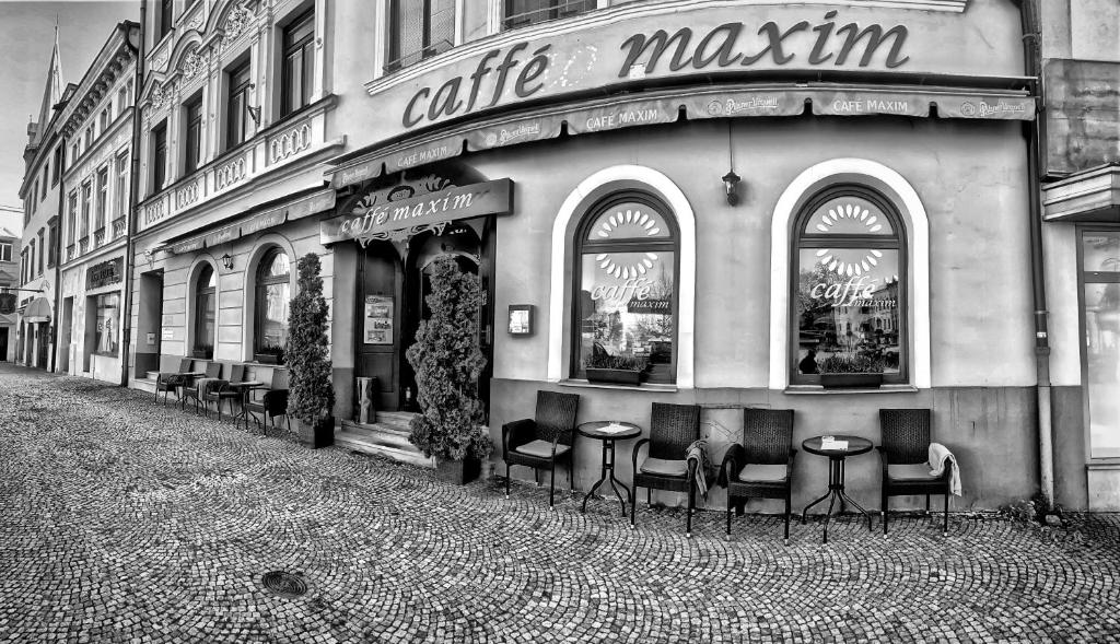
[[[58,58],[58,30],[47,67],[39,118],[28,124],[24,150],[26,172],[19,188],[24,200],[24,240],[20,251],[19,317],[16,360],[27,366],[53,370],[55,289],[58,286],[58,202],[64,142],[58,115],[67,97]]]

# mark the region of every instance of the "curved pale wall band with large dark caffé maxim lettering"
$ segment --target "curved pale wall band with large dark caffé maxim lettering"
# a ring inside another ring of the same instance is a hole
[[[786,72],[795,80],[858,72],[861,82],[889,74],[893,83],[926,84],[931,75],[1023,74],[1012,2],[943,0],[924,2],[923,10],[902,0],[875,4],[675,0],[577,16],[563,34],[545,25],[517,29],[371,83],[376,101],[364,125],[384,140],[525,101],[689,76],[708,84],[756,72],[769,81]],[[512,39],[516,34],[526,37]]]

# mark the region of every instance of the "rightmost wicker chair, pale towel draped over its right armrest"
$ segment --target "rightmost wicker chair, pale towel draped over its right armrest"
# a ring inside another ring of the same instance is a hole
[[[930,513],[930,495],[945,496],[943,534],[949,534],[949,495],[952,480],[952,461],[941,476],[930,474],[930,416],[928,409],[880,409],[879,426],[883,445],[879,463],[883,470],[883,534],[887,533],[887,500],[892,496],[925,495],[925,512]]]

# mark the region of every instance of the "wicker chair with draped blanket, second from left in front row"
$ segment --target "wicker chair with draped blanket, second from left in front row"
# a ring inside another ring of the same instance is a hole
[[[634,526],[634,506],[637,488],[645,488],[646,506],[651,489],[683,492],[689,496],[684,536],[692,536],[692,508],[696,506],[696,461],[688,460],[688,449],[700,438],[700,407],[696,404],[653,403],[650,438],[634,446],[634,486],[631,489],[631,526]],[[647,447],[646,458],[638,465],[638,452]]]

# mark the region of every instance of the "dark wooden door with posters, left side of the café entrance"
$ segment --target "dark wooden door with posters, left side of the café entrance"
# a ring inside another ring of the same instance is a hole
[[[355,372],[376,377],[376,409],[401,408],[401,289],[400,255],[389,243],[373,242],[358,260],[355,289]]]

